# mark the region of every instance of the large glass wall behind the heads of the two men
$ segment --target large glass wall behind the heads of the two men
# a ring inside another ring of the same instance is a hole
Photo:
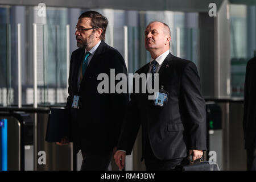
[[[77,49],[75,26],[88,9],[46,7],[46,16],[37,6],[0,7],[0,105],[18,105],[18,28],[21,34],[22,105],[34,103],[34,47],[36,46],[38,105],[64,105],[67,99],[67,59]],[[198,14],[172,11],[125,11],[94,9],[109,20],[106,43],[125,57],[134,73],[150,61],[144,49],[144,30],[159,20],[171,29],[171,53],[197,64]],[[36,35],[34,35],[36,26]],[[67,27],[68,26],[68,27]],[[67,44],[67,38],[69,44]],[[36,45],[34,40],[36,39]]]

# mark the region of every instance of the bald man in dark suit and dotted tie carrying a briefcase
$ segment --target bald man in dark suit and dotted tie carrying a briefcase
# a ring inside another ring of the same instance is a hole
[[[151,22],[144,36],[151,60],[136,73],[158,73],[161,89],[156,100],[148,100],[148,93],[131,94],[115,163],[120,169],[125,166],[125,156],[131,154],[142,126],[142,160],[146,169],[181,169],[189,155],[193,160],[200,159],[207,150],[205,101],[199,74],[192,61],[170,53],[171,32],[167,24]],[[133,89],[135,86],[134,83]],[[142,88],[142,83],[139,86]]]

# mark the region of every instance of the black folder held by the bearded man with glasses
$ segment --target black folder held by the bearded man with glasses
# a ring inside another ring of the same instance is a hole
[[[68,109],[51,108],[47,123],[46,141],[60,142],[61,138],[69,137],[70,119]]]

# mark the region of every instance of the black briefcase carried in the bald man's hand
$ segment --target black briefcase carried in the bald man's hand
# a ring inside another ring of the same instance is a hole
[[[183,171],[220,171],[220,168],[216,162],[203,161],[203,157],[200,162],[194,162],[190,155],[190,164],[183,166]]]

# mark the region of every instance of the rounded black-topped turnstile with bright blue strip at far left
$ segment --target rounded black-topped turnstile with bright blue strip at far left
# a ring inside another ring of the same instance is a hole
[[[6,127],[6,148],[2,148],[2,151],[6,153],[2,155],[2,160],[7,162],[6,170],[24,170],[25,146],[32,145],[33,140],[33,123],[30,115],[26,113],[1,113],[0,120],[5,121],[2,128]],[[3,138],[2,141],[4,141]],[[1,143],[3,144],[3,142]],[[26,160],[26,163],[29,164],[29,160]]]

